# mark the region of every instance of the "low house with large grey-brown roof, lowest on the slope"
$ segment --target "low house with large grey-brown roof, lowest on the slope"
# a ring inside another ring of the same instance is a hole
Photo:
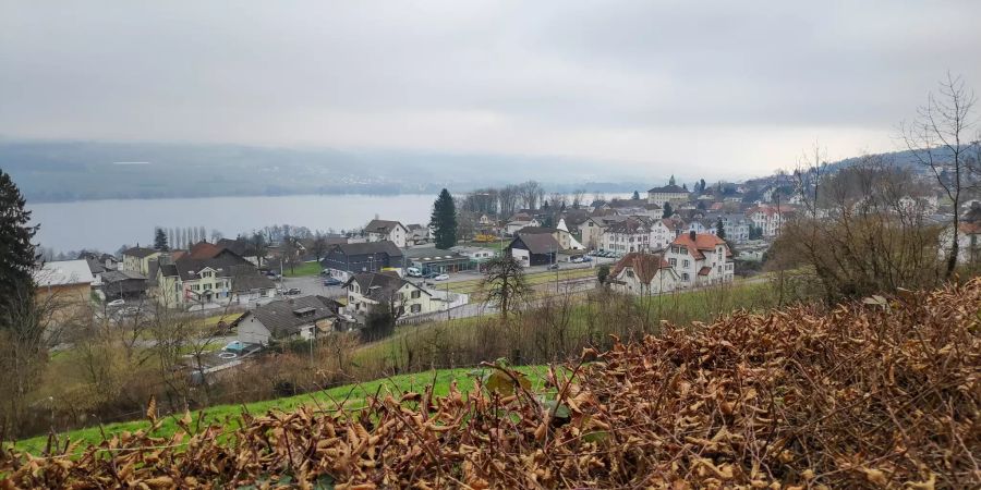
[[[312,340],[335,330],[338,308],[337,302],[324,296],[279,299],[245,311],[232,324],[243,344]]]

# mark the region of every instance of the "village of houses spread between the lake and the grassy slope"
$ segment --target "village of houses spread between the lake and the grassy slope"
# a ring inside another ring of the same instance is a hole
[[[761,271],[786,222],[827,212],[809,207],[806,188],[782,174],[713,186],[701,180],[691,188],[671,175],[643,194],[589,204],[582,193],[546,196],[529,184],[524,197],[521,185],[512,198],[488,199],[486,191],[456,197],[458,236],[446,248],[436,247],[433,223],[384,219],[332,235],[207,241],[202,230],[181,236],[184,248],[168,246],[172,231],[158,230],[153,247],[45,262],[38,294],[74,310],[60,318],[123,321],[160,309],[220,316],[220,345],[211,342],[220,355],[208,365],[220,369],[276,343],[363,331],[379,306],[396,324],[494,314],[482,287],[485,265],[500,255],[522,266],[540,296],[596,287],[650,296],[732,283]],[[931,193],[901,203],[934,223],[953,215]],[[514,209],[501,212],[506,204]],[[981,210],[977,201],[964,208],[960,250],[974,254]]]

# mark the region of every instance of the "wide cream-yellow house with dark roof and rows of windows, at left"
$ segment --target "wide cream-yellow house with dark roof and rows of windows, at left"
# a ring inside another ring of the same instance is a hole
[[[157,294],[166,306],[247,304],[271,298],[276,284],[252,262],[221,249],[210,258],[190,254],[157,267]]]

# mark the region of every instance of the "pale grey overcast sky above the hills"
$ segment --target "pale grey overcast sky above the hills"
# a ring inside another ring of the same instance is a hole
[[[8,1],[0,135],[576,157],[737,176],[897,148],[981,1]]]

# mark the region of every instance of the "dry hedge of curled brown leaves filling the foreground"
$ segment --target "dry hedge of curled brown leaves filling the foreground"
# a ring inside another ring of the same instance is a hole
[[[237,430],[187,414],[187,434],[10,450],[0,487],[978,488],[979,309],[973,280],[666,324],[586,350],[544,391],[498,366],[467,395],[245,416]]]

